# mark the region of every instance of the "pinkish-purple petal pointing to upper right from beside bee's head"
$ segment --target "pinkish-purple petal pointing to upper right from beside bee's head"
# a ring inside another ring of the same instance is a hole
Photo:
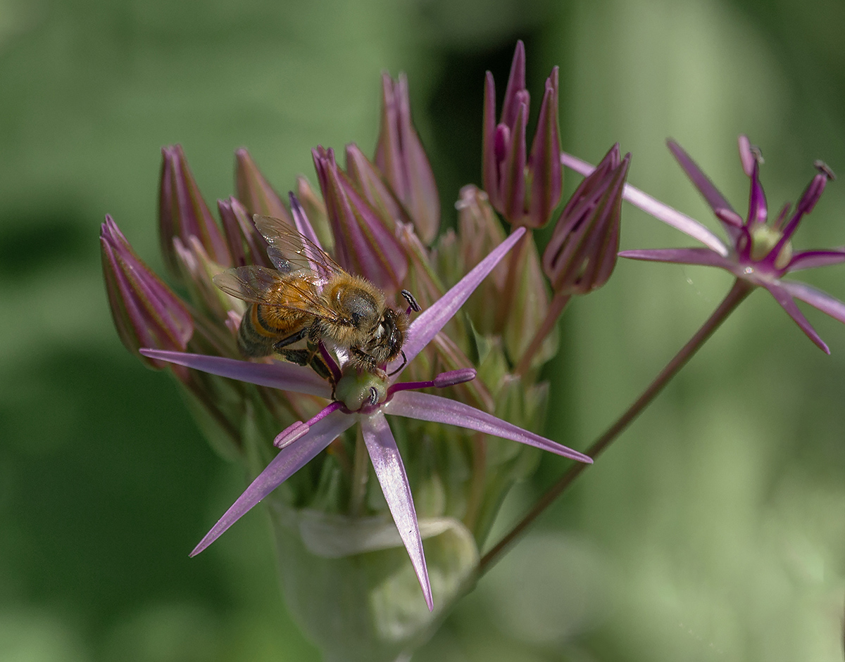
[[[481,285],[482,280],[493,271],[499,260],[504,258],[505,254],[514,247],[514,244],[524,234],[525,228],[517,228],[511,232],[510,236],[502,241],[499,246],[493,248],[489,255],[477,263],[469,274],[466,274],[466,276],[459,280],[444,296],[434,301],[430,307],[421,312],[411,323],[411,328],[408,329],[406,343],[402,347],[408,363],[413,361],[414,357],[423,350],[423,347],[431,342],[441,328],[444,328],[445,324],[464,305],[478,285]],[[398,363],[399,361],[397,360],[391,365],[395,366]],[[396,373],[393,381],[399,377],[399,374],[399,372]]]

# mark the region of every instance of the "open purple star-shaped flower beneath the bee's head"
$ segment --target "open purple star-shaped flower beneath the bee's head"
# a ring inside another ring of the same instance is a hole
[[[412,322],[408,329],[406,343],[403,346],[408,362],[412,361],[455,315],[455,312],[469,298],[472,291],[481,284],[482,280],[499,263],[499,260],[510,251],[510,248],[514,246],[524,232],[523,228],[514,231],[498,247],[493,249],[487,258],[484,258],[472,271],[466,274],[457,285]],[[294,366],[290,363],[250,363],[221,356],[186,354],[177,351],[140,351],[150,358],[170,361],[222,377],[232,377],[244,382],[297,393],[309,393],[324,398],[331,396],[328,383],[319,379],[308,368]],[[395,363],[398,366],[399,361]],[[402,464],[399,450],[396,447],[395,439],[385,415],[406,416],[420,421],[461,426],[485,434],[511,439],[515,442],[526,443],[579,462],[592,462],[582,453],[566,448],[533,432],[523,430],[507,421],[502,421],[468,404],[428,393],[417,393],[414,390],[418,388],[442,388],[469,381],[475,377],[475,371],[470,368],[442,373],[431,382],[396,383],[400,374],[401,369],[397,370],[392,377],[389,377],[386,383],[371,380],[373,385],[364,383],[363,388],[360,380],[366,380],[368,376],[350,376],[353,382],[351,389],[353,400],[344,393],[346,385],[343,381],[346,377],[341,379],[341,383],[338,383],[337,387],[338,399],[331,402],[311,420],[294,423],[275,438],[275,446],[281,448],[279,453],[200,541],[199,545],[191,552],[191,556],[203,551],[226,529],[237,522],[238,518],[247,513],[250,508],[269,495],[298,469],[301,469],[343,431],[358,422],[361,424],[363,440],[373,462],[373,469],[375,469],[379,484],[384,491],[384,498],[388,507],[390,507],[390,513],[393,515],[396,527],[399,529],[401,540],[409,556],[411,556],[414,572],[417,573],[417,579],[423,589],[426,604],[429,610],[433,610],[431,585],[428,581],[428,570],[423,555],[423,540],[417,524],[417,513],[414,509],[411,488],[408,485],[405,467]],[[357,386],[354,384],[356,378],[359,380]],[[354,393],[358,393],[357,400],[354,400]],[[372,399],[369,398],[368,393],[373,393]],[[372,404],[373,402],[374,404]]]

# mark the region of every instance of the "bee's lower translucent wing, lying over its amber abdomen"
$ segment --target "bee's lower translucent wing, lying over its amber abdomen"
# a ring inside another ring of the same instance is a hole
[[[251,264],[224,271],[213,280],[217,287],[237,299],[262,306],[307,312],[314,317],[342,323],[337,313],[320,299],[311,274],[286,275]]]

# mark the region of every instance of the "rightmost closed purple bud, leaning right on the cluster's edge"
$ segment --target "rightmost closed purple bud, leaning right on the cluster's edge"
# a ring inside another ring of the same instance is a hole
[[[560,213],[542,256],[555,294],[587,294],[613,273],[629,165],[630,154],[619,160],[619,144],[613,145]]]

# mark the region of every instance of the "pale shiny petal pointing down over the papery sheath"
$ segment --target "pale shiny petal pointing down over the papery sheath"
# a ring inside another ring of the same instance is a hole
[[[393,521],[396,523],[396,529],[399,529],[399,535],[405,544],[408,556],[411,556],[414,572],[417,573],[420,588],[423,589],[425,603],[428,605],[428,610],[432,611],[434,602],[423,553],[423,539],[420,536],[417,511],[414,509],[411,486],[408,485],[408,476],[405,465],[402,464],[399,448],[396,448],[390,426],[380,411],[361,419],[361,431],[364,443],[367,444],[370,460],[373,462],[375,475],[379,479],[381,491],[384,492],[384,499],[390,507],[390,514],[393,515]]]

